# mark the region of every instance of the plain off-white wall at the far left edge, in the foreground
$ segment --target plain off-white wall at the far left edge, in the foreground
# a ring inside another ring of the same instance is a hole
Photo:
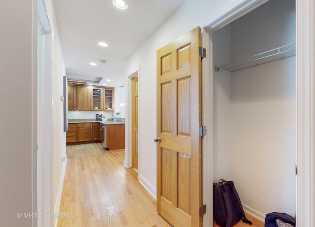
[[[31,227],[17,213],[37,210],[36,1],[0,1],[0,8],[0,226]]]

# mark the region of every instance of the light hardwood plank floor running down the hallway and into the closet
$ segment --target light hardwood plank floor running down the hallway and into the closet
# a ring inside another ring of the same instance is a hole
[[[66,147],[67,166],[58,227],[171,227],[156,212],[156,201],[123,166],[125,150],[107,151],[100,143]],[[252,226],[263,227],[248,216]],[[214,223],[214,227],[218,227]]]

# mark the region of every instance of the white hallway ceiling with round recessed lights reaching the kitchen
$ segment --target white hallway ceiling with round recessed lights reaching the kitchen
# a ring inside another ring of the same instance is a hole
[[[126,58],[184,1],[126,0],[128,8],[122,10],[112,0],[53,0],[67,77],[100,77],[92,84],[121,86]],[[108,47],[98,46],[99,41]]]

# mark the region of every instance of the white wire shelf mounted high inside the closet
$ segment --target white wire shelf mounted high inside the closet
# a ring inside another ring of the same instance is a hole
[[[262,65],[269,62],[285,59],[295,56],[295,43],[281,46],[260,54],[253,55],[241,61],[230,63],[216,67],[216,71],[228,70],[230,72],[238,71],[244,68],[249,68],[256,65]]]

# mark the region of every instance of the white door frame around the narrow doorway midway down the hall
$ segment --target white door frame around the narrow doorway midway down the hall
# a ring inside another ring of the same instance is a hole
[[[127,81],[126,81],[126,138],[125,138],[125,161],[124,166],[126,168],[132,167],[132,78],[138,76],[138,119],[140,118],[140,65],[138,68],[131,70],[130,73],[127,74]],[[138,120],[138,135],[140,134],[140,121]],[[138,172],[140,172],[140,136],[138,136]],[[138,175],[139,176],[139,175]]]

